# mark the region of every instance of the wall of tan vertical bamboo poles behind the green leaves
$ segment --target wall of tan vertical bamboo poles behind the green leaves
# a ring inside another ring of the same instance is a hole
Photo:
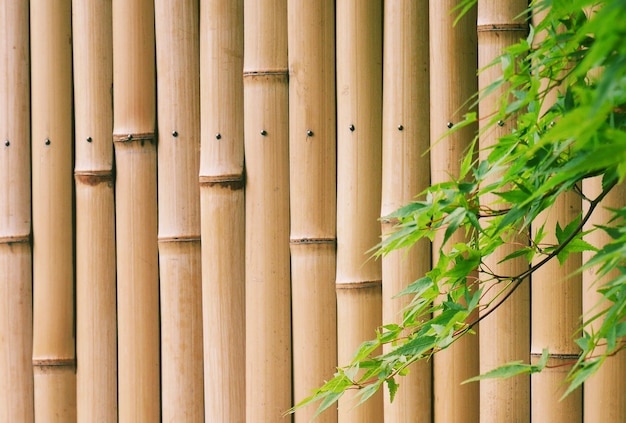
[[[427,243],[369,257],[381,215],[458,172],[472,128],[436,141],[495,77],[478,64],[525,35],[524,1],[453,28],[455,4],[0,0],[0,423],[308,421],[283,413],[430,266]],[[557,371],[532,394],[459,385],[546,346],[569,357],[593,296],[560,322],[538,289],[532,348],[526,284],[393,403],[346,396],[319,421],[582,421]],[[584,421],[624,421],[615,379],[590,382]]]

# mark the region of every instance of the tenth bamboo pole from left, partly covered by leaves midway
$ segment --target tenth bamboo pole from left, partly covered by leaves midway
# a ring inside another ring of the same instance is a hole
[[[429,60],[428,0],[384,2],[382,217],[428,187]],[[394,222],[382,220],[382,233]],[[430,243],[395,251],[382,260],[383,321],[401,322],[409,297],[393,298],[430,270]],[[386,348],[389,349],[389,348]],[[385,422],[432,421],[431,363],[412,366],[394,402],[385,392]],[[419,400],[416,400],[418,399]]]

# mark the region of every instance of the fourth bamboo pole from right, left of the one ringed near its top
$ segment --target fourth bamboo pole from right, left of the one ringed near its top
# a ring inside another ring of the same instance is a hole
[[[476,78],[476,8],[456,25],[450,11],[455,0],[430,1],[430,158],[433,184],[457,178],[477,125],[442,139],[449,123],[468,112],[466,101],[478,89]],[[462,106],[466,106],[463,108]],[[433,260],[439,257],[442,234],[433,240]],[[462,233],[450,242],[467,241]],[[436,422],[476,422],[480,416],[479,384],[461,385],[479,374],[478,336],[466,336],[433,359],[434,417]]]

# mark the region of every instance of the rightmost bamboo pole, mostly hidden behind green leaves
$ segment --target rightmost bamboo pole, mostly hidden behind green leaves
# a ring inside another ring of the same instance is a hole
[[[596,198],[602,192],[602,179],[590,178],[583,181],[583,192],[588,198]],[[590,230],[595,225],[606,225],[613,218],[609,210],[619,209],[626,206],[626,185],[623,183],[616,186],[594,210],[593,215],[585,224],[584,230]],[[583,204],[585,207],[587,204]],[[585,240],[596,248],[602,248],[611,237],[602,229],[590,233]],[[584,252],[583,262],[589,260],[594,253]],[[606,275],[598,280],[597,269],[587,269],[583,272],[583,319],[587,320],[600,312],[602,295],[597,292],[603,283],[617,277],[617,271]],[[592,323],[591,327],[597,327],[600,322]],[[589,329],[587,329],[589,330]],[[623,342],[623,341],[622,341]],[[598,350],[597,353],[600,353]],[[584,386],[583,397],[583,421],[585,422],[623,422],[626,421],[626,395],[624,395],[624,377],[626,374],[626,355],[621,352],[608,357],[597,373],[591,376]]]

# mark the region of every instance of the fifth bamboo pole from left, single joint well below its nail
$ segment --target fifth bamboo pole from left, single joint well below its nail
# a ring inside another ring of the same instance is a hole
[[[157,0],[154,7],[162,413],[168,422],[201,422],[199,4]]]

